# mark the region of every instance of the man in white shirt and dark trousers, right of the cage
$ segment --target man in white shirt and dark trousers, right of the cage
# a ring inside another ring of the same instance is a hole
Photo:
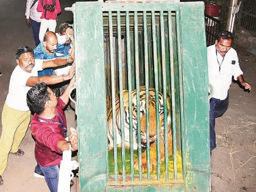
[[[214,94],[210,99],[210,149],[216,148],[215,118],[222,116],[229,106],[229,87],[232,77],[247,90],[252,86],[244,81],[235,49],[231,48],[233,34],[222,30],[215,44],[207,48],[208,79]]]

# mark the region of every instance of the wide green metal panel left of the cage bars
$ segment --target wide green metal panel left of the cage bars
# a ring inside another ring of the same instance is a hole
[[[80,191],[104,191],[107,180],[107,130],[102,127],[107,126],[107,111],[101,7],[93,2],[77,2],[73,7]],[[88,30],[90,28],[94,30]]]

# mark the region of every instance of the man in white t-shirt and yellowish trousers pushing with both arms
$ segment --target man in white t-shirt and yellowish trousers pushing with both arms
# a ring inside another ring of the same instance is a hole
[[[52,60],[34,59],[34,51],[28,46],[21,46],[16,50],[17,66],[12,72],[9,93],[2,109],[2,134],[0,138],[0,185],[4,183],[2,173],[7,166],[8,155],[24,155],[18,149],[30,122],[30,110],[27,107],[26,96],[30,87],[40,82],[48,85],[58,84],[74,76],[75,65],[68,74],[62,76],[38,77],[38,71],[73,62],[73,57],[56,58]]]

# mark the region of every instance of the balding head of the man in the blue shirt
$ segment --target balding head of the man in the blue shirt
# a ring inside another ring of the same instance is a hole
[[[53,54],[58,46],[58,38],[52,31],[48,31],[44,34],[43,37],[43,46],[44,51],[46,51],[49,55]]]

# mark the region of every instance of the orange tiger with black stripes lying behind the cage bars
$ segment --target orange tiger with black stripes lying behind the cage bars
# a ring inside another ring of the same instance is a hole
[[[133,149],[138,149],[138,123],[137,123],[137,90],[132,90],[132,133],[133,133]],[[167,130],[168,130],[168,155],[172,155],[172,131],[171,131],[171,108],[169,97],[166,98],[167,105]],[[124,104],[124,146],[130,149],[130,132],[129,132],[129,94],[128,90],[123,90]],[[149,88],[149,143],[150,143],[150,162],[151,170],[155,171],[157,166],[157,129],[155,115],[155,89]],[[159,133],[160,133],[160,160],[165,158],[164,148],[164,110],[163,110],[163,94],[158,92],[159,105]],[[120,100],[119,95],[115,95],[116,108],[116,144],[121,148],[121,121],[120,121]],[[146,90],[144,86],[140,87],[140,119],[141,119],[141,147],[146,148]],[[112,118],[112,96],[107,96],[107,137],[108,150],[113,149],[113,118]],[[138,170],[138,159],[135,160],[135,170]],[[146,150],[141,154],[142,171],[147,170]]]

